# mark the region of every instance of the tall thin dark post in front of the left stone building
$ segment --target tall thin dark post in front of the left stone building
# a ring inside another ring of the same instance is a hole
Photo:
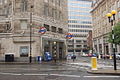
[[[32,54],[31,54],[31,50],[32,50],[32,46],[31,46],[31,40],[32,40],[32,9],[33,9],[33,5],[30,6],[31,8],[31,12],[30,12],[30,56],[29,56],[29,63],[32,62]]]

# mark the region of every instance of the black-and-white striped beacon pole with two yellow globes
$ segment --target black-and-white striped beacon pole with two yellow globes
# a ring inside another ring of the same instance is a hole
[[[114,60],[114,70],[117,70],[117,66],[116,66],[116,54],[115,54],[115,44],[114,44],[114,29],[113,29],[113,27],[114,27],[114,21],[115,21],[115,14],[116,14],[117,12],[115,11],[115,10],[112,10],[111,11],[111,13],[108,13],[107,14],[107,17],[108,17],[108,19],[109,19],[109,23],[111,23],[111,26],[112,26],[112,50],[113,50],[113,60]],[[113,18],[111,19],[111,17],[113,16]]]

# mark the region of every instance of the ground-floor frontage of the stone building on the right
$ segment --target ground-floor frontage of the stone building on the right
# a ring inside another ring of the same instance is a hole
[[[113,54],[112,44],[108,42],[108,37],[98,37],[93,39],[93,52],[111,55]],[[120,46],[116,45],[115,53],[120,53]]]

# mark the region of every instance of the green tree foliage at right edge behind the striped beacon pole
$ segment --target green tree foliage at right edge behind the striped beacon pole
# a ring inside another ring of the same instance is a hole
[[[114,32],[114,44],[116,45],[120,45],[120,22],[117,23],[114,28],[113,28],[113,32]],[[109,40],[108,42],[113,43],[112,40],[112,32],[109,33]]]

